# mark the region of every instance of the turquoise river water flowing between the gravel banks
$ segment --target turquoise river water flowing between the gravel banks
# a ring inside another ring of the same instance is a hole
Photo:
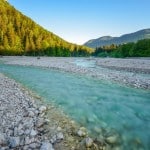
[[[115,130],[124,150],[150,149],[150,91],[46,68],[0,64],[0,72],[61,106],[92,136]]]

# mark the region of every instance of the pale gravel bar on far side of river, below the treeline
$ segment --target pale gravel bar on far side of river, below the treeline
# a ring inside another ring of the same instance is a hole
[[[150,59],[2,57],[6,64],[47,67],[150,89]],[[92,64],[92,65],[89,65]]]

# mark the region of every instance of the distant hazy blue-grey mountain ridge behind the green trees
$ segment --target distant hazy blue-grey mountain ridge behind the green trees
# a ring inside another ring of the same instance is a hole
[[[150,38],[150,28],[140,30],[130,34],[125,34],[120,37],[103,36],[98,39],[89,40],[84,45],[91,48],[96,48],[96,47],[101,47],[101,46],[106,46],[111,44],[119,45],[119,44],[129,43],[129,42],[137,42],[138,40],[149,39],[149,38]]]

